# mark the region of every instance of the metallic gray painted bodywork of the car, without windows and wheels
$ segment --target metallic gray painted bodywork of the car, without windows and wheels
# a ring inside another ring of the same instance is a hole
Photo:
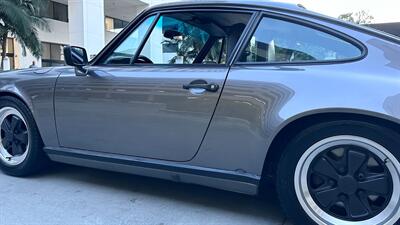
[[[167,8],[175,6],[182,7],[177,3]],[[223,7],[224,4],[218,3],[216,6]],[[228,4],[225,6],[230,7]],[[257,8],[259,5],[252,7]],[[345,33],[362,42],[368,54],[356,61],[334,64],[232,65],[229,73],[228,68],[195,66],[94,67],[98,77],[76,77],[70,67],[42,73],[26,70],[2,73],[0,90],[13,93],[26,102],[48,149],[67,145],[86,148],[90,150],[87,154],[114,153],[122,154],[121,157],[128,155],[127,158],[135,156],[133,161],[149,160],[143,157],[158,158],[157,163],[173,163],[199,170],[212,169],[221,173],[225,171],[255,179],[259,179],[262,174],[269,146],[275,136],[288,124],[304,116],[342,112],[400,123],[398,44],[351,26],[319,19],[315,13],[301,8],[276,7],[281,8],[275,11],[274,7],[269,7],[265,11],[314,22]],[[225,86],[219,93],[192,96],[181,88],[181,85],[194,78],[214,81],[222,87],[227,73]],[[130,77],[132,74],[134,76]],[[118,84],[110,84],[114,81]],[[219,94],[221,96],[217,104]],[[107,115],[110,115],[110,120],[104,120]],[[210,119],[208,127],[207,120]],[[123,127],[116,133],[128,138],[127,145],[117,143],[118,137],[110,135],[116,124]],[[182,133],[173,133],[174,130]],[[155,135],[150,131],[155,131]],[[143,134],[146,135],[139,138]],[[99,139],[95,140],[95,137]],[[118,148],[113,147],[116,143]],[[171,171],[145,169],[144,172],[137,167],[105,165],[104,162],[54,154],[51,158],[78,165],[177,180],[176,173]],[[216,183],[205,176],[190,177],[179,181],[249,194],[257,190],[254,184],[243,186],[228,179],[219,179]]]

